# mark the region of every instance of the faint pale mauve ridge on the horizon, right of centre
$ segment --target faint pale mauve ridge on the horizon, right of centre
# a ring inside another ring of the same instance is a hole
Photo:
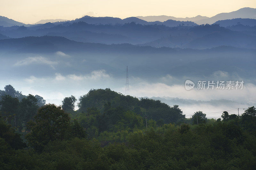
[[[196,22],[197,20],[205,19],[205,18],[209,18],[209,17],[204,17],[204,16],[201,16],[201,15],[197,15],[196,17],[191,17],[191,18],[189,18],[189,17],[176,18],[176,17],[172,17],[172,16],[160,15],[160,16],[146,16],[146,17],[137,16],[137,18],[143,19],[143,20],[148,21],[148,22],[154,22],[154,21],[164,22],[164,21],[167,21],[169,19],[176,20],[176,21]]]

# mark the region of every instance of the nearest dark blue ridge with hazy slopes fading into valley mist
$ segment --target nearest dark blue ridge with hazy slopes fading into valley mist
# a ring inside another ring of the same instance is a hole
[[[152,81],[160,75],[195,78],[211,76],[221,70],[255,83],[250,80],[256,74],[255,50],[228,46],[200,50],[131,44],[106,45],[76,42],[56,36],[0,40],[1,60],[12,63],[11,67],[4,65],[2,69],[13,77],[31,75],[32,72],[34,76],[50,76],[53,72],[79,75],[81,72],[102,69],[113,76],[123,76],[118,70],[129,65],[132,75]],[[68,57],[58,55],[59,51]],[[29,67],[24,62],[29,62]],[[20,69],[23,71],[19,72]]]

